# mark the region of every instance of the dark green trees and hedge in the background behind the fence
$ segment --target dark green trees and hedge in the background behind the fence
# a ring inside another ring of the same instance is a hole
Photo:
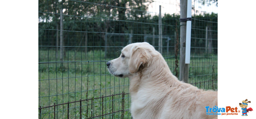
[[[72,46],[79,46],[80,49],[87,46],[125,46],[129,43],[129,35],[132,35],[132,42],[148,41],[152,44],[153,39],[145,39],[144,34],[158,35],[158,16],[150,16],[146,12],[147,7],[142,0],[39,0],[38,45],[57,45],[56,41],[60,39],[60,10],[63,11],[63,42],[68,49],[79,49]],[[165,14],[162,18],[163,36],[171,37],[171,46],[175,43],[174,33],[175,28],[179,28],[179,18],[180,16],[175,14]],[[213,31],[217,31],[217,14],[200,14],[193,18],[192,28],[205,29],[206,26],[211,26]],[[199,38],[192,43],[193,46],[204,46],[204,40],[200,38],[205,36],[201,34],[205,34],[205,31],[192,30],[192,37]],[[217,32],[212,36],[212,39],[217,39]],[[157,40],[156,37],[154,41]],[[163,42],[163,45],[166,46],[166,43]],[[158,44],[155,43],[155,46]],[[217,48],[216,45],[213,47]],[[117,49],[119,48],[114,50]],[[89,47],[88,50],[93,48]]]

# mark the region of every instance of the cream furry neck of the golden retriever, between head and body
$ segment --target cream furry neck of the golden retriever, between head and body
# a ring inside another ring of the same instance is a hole
[[[164,78],[170,77],[170,78]],[[135,94],[139,88],[145,84],[155,84],[159,88],[169,88],[174,86],[178,79],[172,75],[167,63],[163,57],[153,57],[152,62],[147,66],[141,67],[134,75],[129,77],[129,92]],[[158,86],[157,86],[158,85]]]

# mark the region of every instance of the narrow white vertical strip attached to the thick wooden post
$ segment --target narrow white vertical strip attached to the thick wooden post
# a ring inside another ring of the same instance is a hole
[[[192,11],[192,0],[188,0],[187,6],[187,18],[191,18]],[[186,29],[186,54],[185,54],[185,63],[190,63],[190,42],[191,42],[191,21],[187,21],[187,29]]]

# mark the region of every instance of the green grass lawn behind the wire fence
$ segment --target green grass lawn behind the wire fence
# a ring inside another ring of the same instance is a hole
[[[95,49],[87,53],[83,51],[69,50],[63,62],[59,58],[56,50],[40,50],[38,64],[38,107],[46,107],[55,104],[62,104],[77,100],[97,98],[119,93],[129,93],[129,79],[116,78],[109,74],[106,62],[120,55],[120,52],[114,53],[116,56],[105,57],[102,49]],[[171,57],[170,57],[171,56]],[[164,56],[172,73],[174,73],[174,55]],[[196,56],[196,55],[194,55]],[[197,55],[198,56],[198,55]],[[217,89],[217,56],[191,57],[189,83],[199,88]],[[178,69],[179,71],[179,69]],[[179,74],[179,72],[178,72]],[[214,81],[211,81],[214,80]],[[198,83],[201,82],[201,83]],[[113,101],[112,101],[113,100]],[[124,96],[124,118],[131,118],[129,112],[130,106],[129,94]],[[122,95],[110,96],[100,99],[93,99],[82,102],[82,118],[111,113],[112,110],[122,109]],[[113,106],[112,106],[113,105]],[[80,103],[69,105],[60,105],[55,107],[56,118],[79,118]],[[69,111],[69,115],[67,115]],[[38,110],[38,114],[40,114]],[[118,119],[121,118],[121,112],[99,116],[98,118]],[[41,109],[41,117],[54,118],[54,108]]]

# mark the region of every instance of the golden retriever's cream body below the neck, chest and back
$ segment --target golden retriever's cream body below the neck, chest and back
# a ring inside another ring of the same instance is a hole
[[[143,84],[138,93],[132,95],[134,119],[217,118],[217,115],[206,115],[205,110],[205,106],[217,106],[216,91],[203,91],[178,80],[173,86],[148,84]]]

